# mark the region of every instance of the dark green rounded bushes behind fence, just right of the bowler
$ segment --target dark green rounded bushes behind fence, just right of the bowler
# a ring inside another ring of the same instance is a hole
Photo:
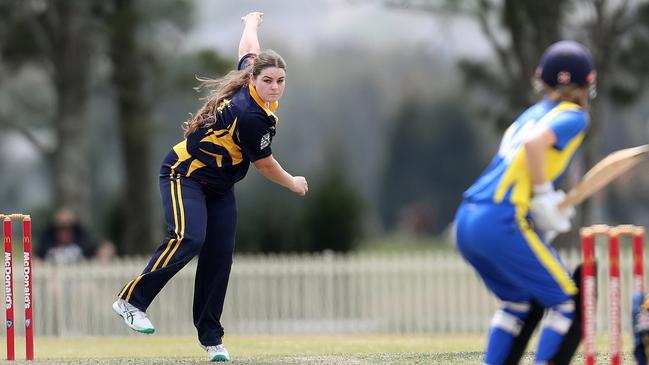
[[[342,169],[310,178],[305,197],[248,179],[255,188],[237,195],[237,252],[350,251],[362,238],[364,204]]]

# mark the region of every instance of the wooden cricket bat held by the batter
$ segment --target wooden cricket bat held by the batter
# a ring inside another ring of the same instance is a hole
[[[559,208],[575,206],[595,194],[649,155],[649,144],[625,148],[604,157],[566,195]]]

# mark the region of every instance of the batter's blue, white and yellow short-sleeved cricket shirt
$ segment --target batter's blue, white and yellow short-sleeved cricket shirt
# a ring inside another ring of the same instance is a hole
[[[557,142],[546,155],[545,174],[556,184],[581,145],[587,125],[588,116],[577,104],[543,100],[533,105],[507,129],[498,153],[464,198],[529,206],[532,179],[523,147],[525,139],[541,126],[554,132]]]

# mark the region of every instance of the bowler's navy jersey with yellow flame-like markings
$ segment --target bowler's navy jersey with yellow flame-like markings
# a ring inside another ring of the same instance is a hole
[[[254,85],[245,85],[218,105],[214,124],[173,147],[161,174],[192,177],[211,191],[229,189],[246,176],[250,162],[272,154],[277,106],[267,107]]]

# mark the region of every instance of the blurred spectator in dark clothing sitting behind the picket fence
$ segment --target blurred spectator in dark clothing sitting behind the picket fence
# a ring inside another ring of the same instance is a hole
[[[74,214],[65,208],[55,213],[53,222],[41,233],[36,249],[37,257],[60,264],[95,257],[106,261],[114,254],[111,242],[99,245]]]

